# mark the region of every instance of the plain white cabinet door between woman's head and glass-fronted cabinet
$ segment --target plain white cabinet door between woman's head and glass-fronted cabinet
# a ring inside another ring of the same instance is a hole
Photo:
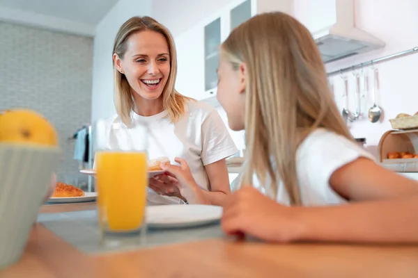
[[[176,90],[194,99],[202,99],[204,88],[203,28],[195,26],[175,39],[177,49]]]

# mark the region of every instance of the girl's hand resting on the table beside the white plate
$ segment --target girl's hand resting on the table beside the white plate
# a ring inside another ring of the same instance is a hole
[[[245,186],[226,198],[221,225],[228,235],[247,234],[272,242],[289,242],[297,231],[296,210]]]

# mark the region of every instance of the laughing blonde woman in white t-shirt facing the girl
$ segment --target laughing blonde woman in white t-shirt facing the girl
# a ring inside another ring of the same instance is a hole
[[[222,204],[231,193],[225,158],[238,149],[215,108],[174,88],[177,58],[171,33],[151,17],[132,17],[116,35],[113,61],[117,115],[107,122],[107,149],[134,148],[146,124],[153,135],[148,156],[179,163],[191,184],[182,188],[173,174],[153,177],[148,202]]]

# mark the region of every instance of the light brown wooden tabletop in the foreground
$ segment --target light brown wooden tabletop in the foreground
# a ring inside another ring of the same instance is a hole
[[[44,206],[80,211],[94,204]],[[0,277],[418,277],[418,246],[204,240],[117,254],[82,254],[36,224],[22,259]]]

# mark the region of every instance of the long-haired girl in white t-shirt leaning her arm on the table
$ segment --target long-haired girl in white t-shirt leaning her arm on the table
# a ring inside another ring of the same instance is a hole
[[[249,19],[222,44],[218,78],[229,126],[247,140],[242,186],[224,204],[226,234],[418,242],[418,183],[357,146],[307,28],[284,13]]]

